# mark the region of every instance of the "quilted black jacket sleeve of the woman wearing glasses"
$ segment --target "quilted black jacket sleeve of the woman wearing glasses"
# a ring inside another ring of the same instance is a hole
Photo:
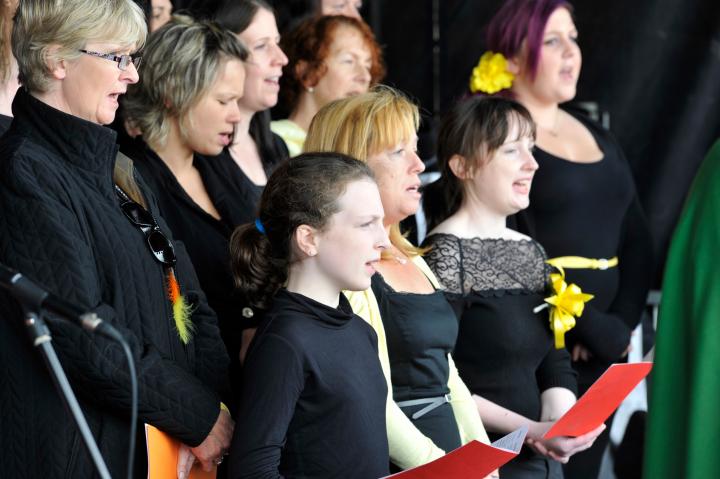
[[[103,277],[96,267],[87,225],[78,221],[59,195],[45,192],[36,175],[15,175],[0,188],[0,204],[13,205],[0,221],[0,253],[11,267],[61,298],[94,311],[126,338],[139,382],[140,421],[157,426],[190,446],[208,435],[220,412],[219,396],[176,361],[144,343],[134,331],[156,318],[144,317],[142,301],[128,298],[137,309],[119,314],[103,302]],[[134,327],[131,329],[129,325]],[[75,391],[86,402],[128,414],[130,378],[122,348],[113,341],[67,322],[50,323],[55,349]],[[206,331],[200,328],[200,336]],[[212,373],[213,375],[216,373]]]

